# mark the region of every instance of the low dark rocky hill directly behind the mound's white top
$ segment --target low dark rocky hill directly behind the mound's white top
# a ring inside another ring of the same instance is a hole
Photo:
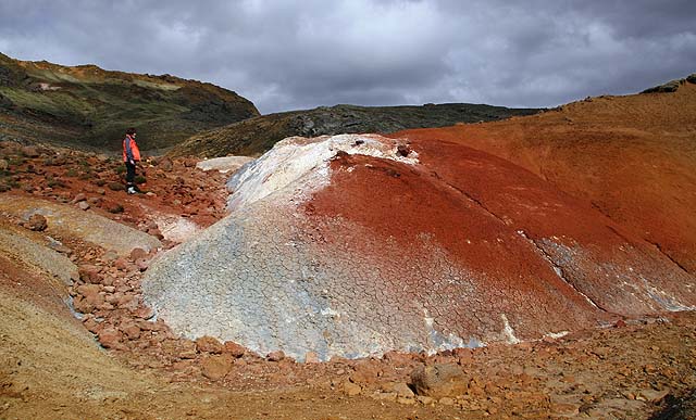
[[[423,106],[321,106],[309,111],[270,114],[192,136],[176,145],[174,156],[216,157],[259,155],[291,136],[393,132],[407,128],[445,127],[530,115],[535,109],[507,109],[470,103]]]

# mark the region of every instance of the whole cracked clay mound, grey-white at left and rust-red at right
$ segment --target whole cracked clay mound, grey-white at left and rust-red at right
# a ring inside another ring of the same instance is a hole
[[[175,331],[303,359],[515,343],[693,308],[695,279],[587,202],[461,144],[288,138],[148,270]]]

